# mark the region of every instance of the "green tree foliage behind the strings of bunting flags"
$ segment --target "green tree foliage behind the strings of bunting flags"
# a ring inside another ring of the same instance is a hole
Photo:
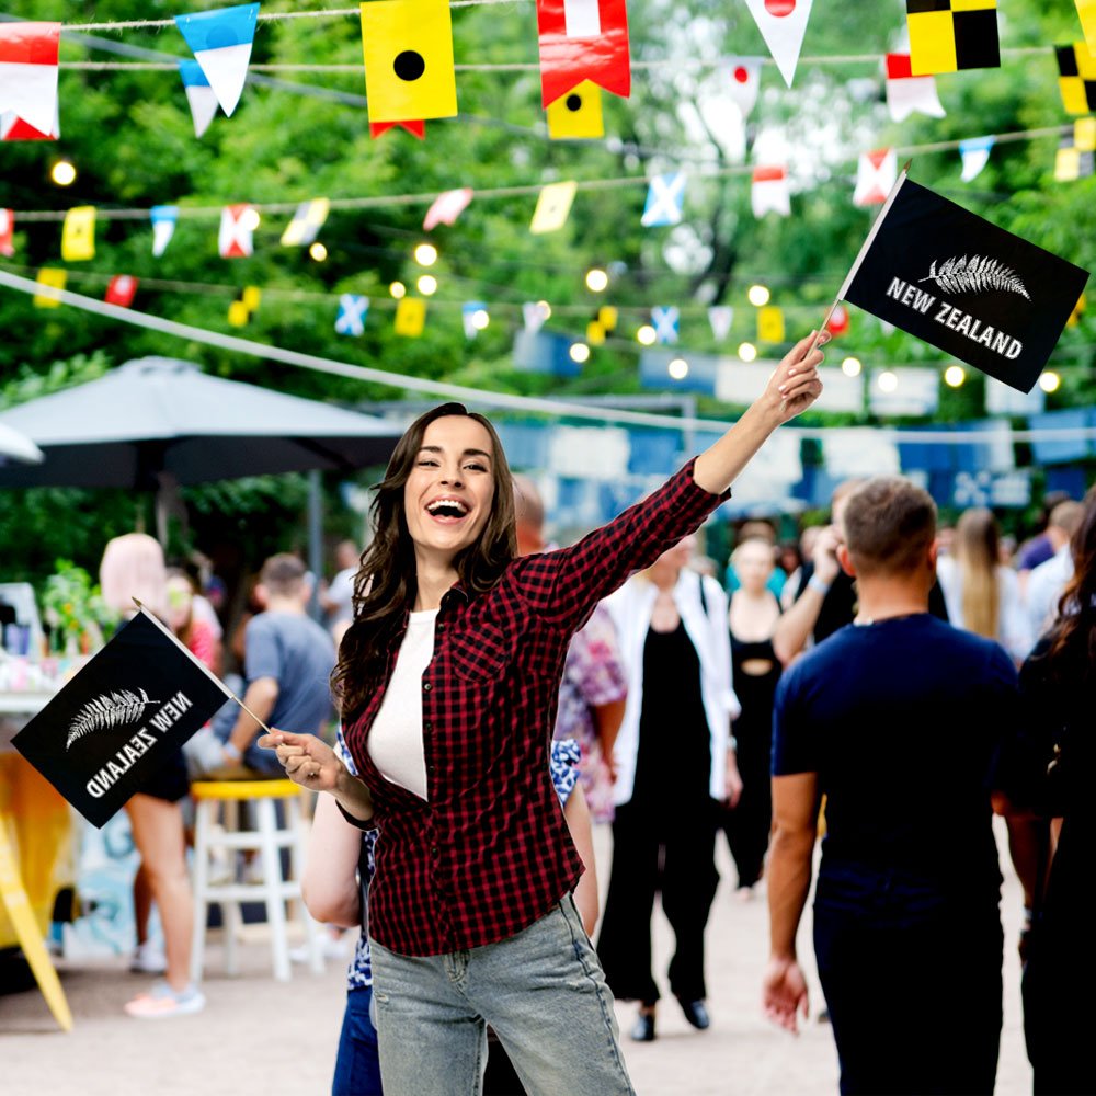
[[[81,4],[60,0],[21,0],[12,15],[70,22],[170,18],[194,8],[163,0],[99,0]],[[332,7],[323,0],[264,2],[264,13]],[[817,5],[803,53],[809,57],[881,55],[898,48],[904,4],[899,0]],[[59,261],[59,221],[20,220],[20,210],[62,209],[89,204],[102,208],[145,210],[155,204],[183,208],[174,239],[161,259],[151,254],[149,222],[102,219],[96,254],[67,264],[69,288],[101,297],[109,277],[128,273],[141,279],[135,307],[183,323],[240,333],[261,343],[306,351],[338,361],[380,366],[397,374],[470,384],[494,390],[539,393],[607,393],[639,390],[638,346],[632,335],[652,305],[683,307],[683,345],[717,351],[705,306],[735,306],[729,345],[754,335],[753,309],[745,288],[763,279],[775,302],[786,309],[789,339],[815,324],[856,254],[875,210],[852,205],[856,158],[886,145],[902,148],[981,134],[1054,127],[1066,122],[1058,89],[1051,46],[1078,36],[1075,9],[1068,0],[1052,4],[1012,0],[1002,5],[1005,46],[1040,46],[1039,53],[1007,58],[1000,71],[938,78],[948,115],[891,123],[882,104],[882,68],[876,60],[815,65],[804,60],[795,88],[787,90],[776,69],[763,69],[762,95],[746,127],[746,144],[764,142],[781,129],[792,150],[792,216],[762,220],[750,210],[749,149],[728,134],[730,110],[720,81],[720,58],[761,55],[767,50],[740,0],[632,0],[629,4],[633,92],[628,101],[605,96],[604,141],[548,141],[539,102],[539,77],[524,71],[459,71],[460,117],[427,123],[427,139],[392,132],[373,140],[364,106],[359,67],[345,73],[277,72],[281,87],[251,82],[231,118],[218,114],[206,135],[195,139],[185,96],[172,71],[113,72],[64,68],[60,76],[62,139],[0,146],[3,163],[2,205],[15,209],[15,255],[4,265],[22,273]],[[453,12],[458,64],[535,64],[536,13],[532,3],[460,8]],[[173,27],[96,32],[111,44],[137,46],[165,58],[187,55]],[[66,35],[65,61],[118,57],[93,48],[85,36]],[[355,16],[326,16],[262,22],[255,37],[256,64],[343,64],[359,66],[362,42]],[[642,67],[646,62],[665,62]],[[297,92],[287,84],[305,85]],[[315,89],[335,98],[313,94]],[[300,92],[300,93],[298,93]],[[918,155],[913,174],[948,196],[1074,262],[1096,263],[1096,182],[1053,181],[1057,137],[998,144],[989,167],[971,184],[959,181],[954,150]],[[68,190],[48,181],[58,155],[77,165]],[[472,202],[453,227],[435,229],[431,239],[441,258],[432,273],[438,279],[421,339],[392,332],[393,301],[388,286],[401,279],[412,287],[421,273],[414,244],[424,238],[425,202],[336,208],[320,239],[326,262],[306,249],[282,248],[281,232],[297,202],[331,198],[381,198],[432,195],[456,186],[487,190],[540,185],[562,179],[613,180],[684,167],[689,172],[685,221],[674,228],[643,229],[640,214],[646,189],[621,185],[580,191],[567,226],[533,237],[528,221],[535,195]],[[285,213],[267,213],[255,232],[254,255],[221,260],[217,254],[219,208],[238,202],[277,203]],[[607,266],[613,281],[605,295],[590,293],[585,270]],[[262,302],[246,329],[227,322],[231,300],[246,287],[262,289]],[[183,288],[190,292],[181,292]],[[370,297],[373,306],[361,339],[333,330],[340,293]],[[582,376],[557,378],[515,368],[512,339],[521,326],[521,304],[548,299],[549,327],[580,336],[602,304],[620,308],[618,330],[595,350]],[[465,338],[460,306],[483,300],[490,327],[475,340]],[[1064,384],[1050,406],[1091,399],[1092,339],[1096,308],[1068,331],[1055,354]],[[118,324],[75,309],[35,309],[30,299],[0,293],[0,385],[10,402],[11,384],[26,393],[32,378],[49,374],[58,358],[93,361],[103,366],[146,354],[198,362],[222,376],[249,380],[297,395],[368,404],[399,398],[396,387],[278,365],[190,344],[156,332]],[[884,333],[869,317],[855,313],[853,329],[838,354],[855,353],[866,365],[941,363],[932,347],[901,332]],[[778,353],[770,347],[766,353]],[[82,358],[75,358],[82,355]],[[76,368],[76,367],[73,367]],[[76,373],[68,380],[78,379]],[[62,378],[64,379],[64,378]],[[981,411],[981,385],[945,390],[940,421],[971,418]],[[701,411],[728,415],[712,400]],[[813,422],[840,422],[815,415]],[[244,515],[249,532],[265,515],[267,525],[285,521],[302,498],[296,488],[266,487],[255,493],[243,486],[194,491],[193,524],[204,536],[218,507]],[[32,510],[0,492],[5,552],[19,567],[67,555],[89,564],[112,529],[132,527],[142,503],[119,498],[103,502],[105,518],[77,503],[75,496],[31,493],[47,509]],[[30,498],[30,496],[28,496]],[[83,498],[82,495],[80,498]],[[66,502],[71,506],[65,510]],[[24,509],[20,509],[24,507]],[[112,509],[113,507],[113,509]],[[62,518],[61,513],[66,516]],[[90,528],[81,522],[88,517]],[[208,518],[209,525],[203,523]],[[31,545],[43,537],[65,541]],[[299,511],[289,516],[299,529]],[[233,527],[236,518],[221,523]],[[238,523],[236,523],[238,524]],[[27,544],[13,528],[26,529]],[[244,530],[232,528],[233,535]],[[296,534],[293,534],[296,535]],[[94,548],[94,551],[92,549]]]

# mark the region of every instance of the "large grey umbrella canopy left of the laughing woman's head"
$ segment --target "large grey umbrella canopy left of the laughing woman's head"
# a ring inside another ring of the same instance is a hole
[[[0,412],[45,454],[0,487],[129,487],[384,464],[402,433],[369,415],[144,357]]]

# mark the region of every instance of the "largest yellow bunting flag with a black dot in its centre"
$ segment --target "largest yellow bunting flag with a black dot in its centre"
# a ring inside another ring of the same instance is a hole
[[[370,123],[457,113],[448,0],[363,3],[362,47]]]

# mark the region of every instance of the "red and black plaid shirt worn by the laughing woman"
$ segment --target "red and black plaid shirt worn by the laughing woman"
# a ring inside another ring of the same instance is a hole
[[[696,486],[689,464],[572,547],[515,559],[489,593],[446,592],[422,675],[429,801],[386,780],[366,747],[403,631],[393,639],[385,685],[346,734],[380,827],[369,929],[384,947],[429,956],[492,944],[573,889],[582,861],[548,766],[568,642],[722,498]]]

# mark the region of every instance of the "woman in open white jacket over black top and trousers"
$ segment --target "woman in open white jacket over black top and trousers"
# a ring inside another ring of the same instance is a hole
[[[657,891],[674,929],[670,989],[686,1019],[708,1027],[704,931],[719,876],[718,803],[742,784],[730,749],[727,596],[689,570],[687,537],[606,600],[628,671],[614,749],[613,869],[597,951],[617,997],[640,1003],[632,1038],[654,1038],[651,971]]]

